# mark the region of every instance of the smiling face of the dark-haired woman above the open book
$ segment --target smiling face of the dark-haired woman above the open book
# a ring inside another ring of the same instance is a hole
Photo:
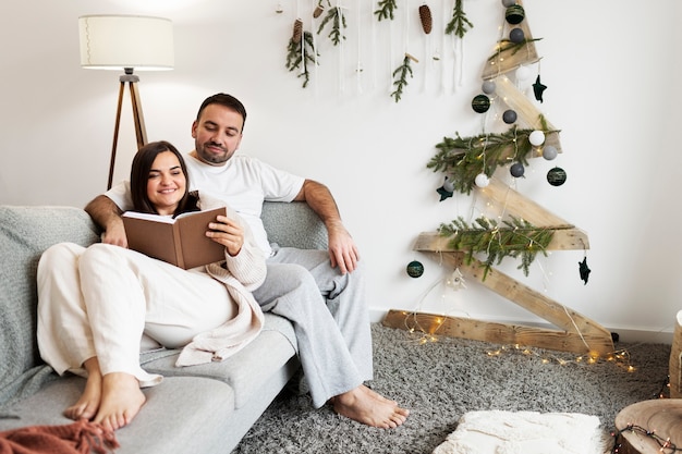
[[[185,195],[187,180],[171,151],[157,155],[147,177],[147,197],[159,214],[173,214]]]

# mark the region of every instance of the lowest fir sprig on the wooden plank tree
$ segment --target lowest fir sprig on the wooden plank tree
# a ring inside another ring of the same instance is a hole
[[[470,265],[475,254],[485,254],[483,281],[494,265],[499,265],[504,257],[521,257],[521,265],[525,275],[528,275],[531,263],[538,253],[547,256],[547,246],[553,237],[555,231],[537,228],[529,222],[510,217],[511,220],[497,221],[487,218],[476,219],[468,225],[461,217],[449,224],[442,223],[438,229],[441,236],[450,237],[448,245],[455,250],[466,251],[466,262]]]

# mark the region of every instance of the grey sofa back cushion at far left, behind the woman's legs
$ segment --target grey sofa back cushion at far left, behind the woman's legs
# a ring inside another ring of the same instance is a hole
[[[99,240],[85,211],[73,207],[0,206],[0,405],[28,395],[50,377],[36,342],[36,270],[49,246]]]

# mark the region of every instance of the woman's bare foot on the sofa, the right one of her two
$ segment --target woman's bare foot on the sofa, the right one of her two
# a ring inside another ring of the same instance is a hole
[[[145,404],[145,395],[134,376],[124,372],[107,373],[102,379],[99,410],[93,422],[105,429],[118,430],[131,424]]]

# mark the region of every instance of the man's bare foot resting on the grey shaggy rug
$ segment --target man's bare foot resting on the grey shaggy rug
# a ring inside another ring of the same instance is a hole
[[[357,422],[381,429],[393,429],[405,422],[410,412],[398,403],[361,384],[331,400],[334,412]]]

